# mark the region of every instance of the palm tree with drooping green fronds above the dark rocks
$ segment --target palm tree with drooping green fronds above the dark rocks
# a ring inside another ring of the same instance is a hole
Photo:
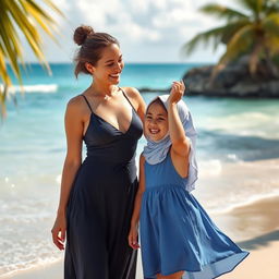
[[[222,26],[197,34],[182,50],[187,54],[199,44],[214,43],[227,46],[226,52],[215,66],[213,77],[229,62],[248,56],[251,75],[255,75],[260,60],[265,60],[271,77],[278,77],[275,63],[279,54],[279,1],[278,0],[235,0],[240,10],[209,3],[201,8],[205,14],[216,15],[227,23]]]

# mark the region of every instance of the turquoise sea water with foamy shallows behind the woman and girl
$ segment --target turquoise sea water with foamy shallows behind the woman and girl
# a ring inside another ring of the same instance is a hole
[[[195,64],[126,64],[122,86],[168,88]],[[33,64],[8,100],[0,126],[0,277],[62,257],[50,230],[65,155],[68,100],[90,84],[71,64],[52,64],[52,76]],[[156,93],[143,93],[148,102]],[[198,131],[201,179],[194,194],[209,213],[278,195],[279,100],[184,97]],[[138,151],[144,146],[141,138]],[[267,174],[265,174],[267,173]]]

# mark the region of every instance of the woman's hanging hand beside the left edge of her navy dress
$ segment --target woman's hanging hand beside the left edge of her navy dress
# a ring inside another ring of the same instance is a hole
[[[65,230],[65,215],[59,214],[51,230],[52,241],[59,250],[64,250]]]

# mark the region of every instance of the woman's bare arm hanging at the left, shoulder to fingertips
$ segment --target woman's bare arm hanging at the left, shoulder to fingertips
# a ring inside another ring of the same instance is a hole
[[[82,163],[83,121],[81,116],[80,101],[81,100],[78,97],[75,97],[69,101],[64,118],[68,149],[62,171],[57,219],[51,230],[53,243],[60,250],[64,248],[63,242],[65,239],[66,230],[65,210],[69,195],[76,172]]]

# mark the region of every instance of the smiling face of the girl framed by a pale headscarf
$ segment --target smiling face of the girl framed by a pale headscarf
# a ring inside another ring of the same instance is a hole
[[[162,105],[151,104],[144,119],[144,134],[151,141],[160,141],[169,131],[168,113]]]

